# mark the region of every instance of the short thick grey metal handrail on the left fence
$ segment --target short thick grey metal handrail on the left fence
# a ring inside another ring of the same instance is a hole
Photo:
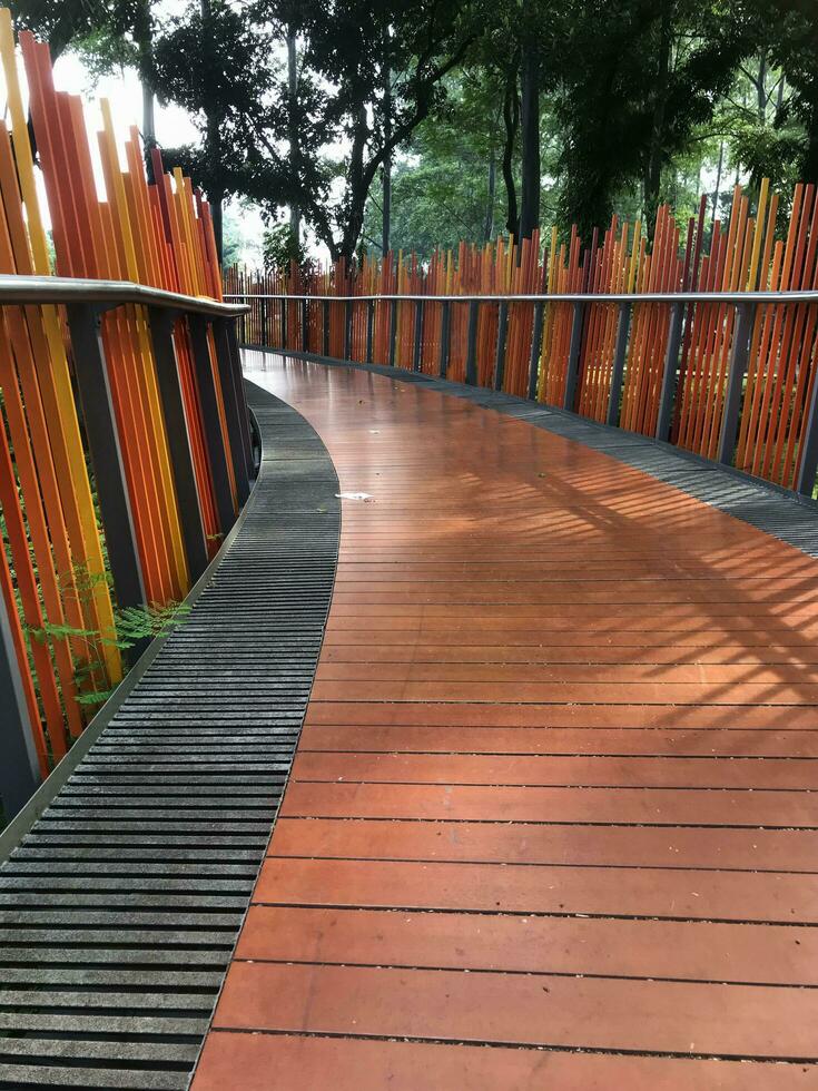
[[[0,305],[49,303],[102,303],[117,306],[135,303],[164,311],[187,311],[214,318],[238,318],[249,307],[218,303],[204,296],[183,295],[131,281],[91,281],[68,276],[0,275]]]

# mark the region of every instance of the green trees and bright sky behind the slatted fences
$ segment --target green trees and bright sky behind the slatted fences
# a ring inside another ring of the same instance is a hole
[[[540,223],[585,238],[739,178],[818,183],[815,0],[18,0],[92,72],[194,120],[167,149],[213,208],[256,205],[270,261],[416,249]],[[229,254],[226,252],[226,257]]]

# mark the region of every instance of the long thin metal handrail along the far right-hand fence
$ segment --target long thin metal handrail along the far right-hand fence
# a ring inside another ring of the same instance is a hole
[[[633,292],[554,293],[553,295],[289,295],[263,292],[225,293],[225,299],[306,299],[312,303],[818,303],[807,292]]]

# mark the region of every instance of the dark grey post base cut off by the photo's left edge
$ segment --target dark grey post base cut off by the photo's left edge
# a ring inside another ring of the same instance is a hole
[[[6,599],[0,594],[0,803],[10,822],[40,784],[40,766],[29,720]]]

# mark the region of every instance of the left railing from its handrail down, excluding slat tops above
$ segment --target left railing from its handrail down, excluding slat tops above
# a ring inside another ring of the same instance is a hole
[[[7,818],[121,677],[117,618],[183,599],[249,494],[244,311],[127,282],[0,276]],[[49,326],[65,335],[56,356]]]

